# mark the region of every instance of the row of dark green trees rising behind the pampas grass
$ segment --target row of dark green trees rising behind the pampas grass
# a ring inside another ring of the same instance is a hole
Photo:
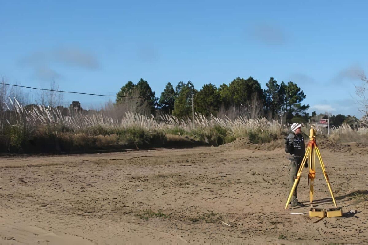
[[[252,77],[237,77],[229,84],[223,83],[219,87],[207,83],[201,89],[196,89],[191,81],[178,82],[175,87],[169,82],[159,98],[148,82],[141,79],[137,84],[127,82],[116,95],[138,95],[141,97],[139,103],[148,107],[151,114],[163,113],[180,118],[191,116],[192,97],[194,111],[204,116],[216,116],[220,111],[235,108],[238,111],[242,108],[248,111],[254,109],[257,116],[281,119],[283,122],[308,122],[311,116],[316,116],[306,112],[309,105],[302,104],[306,95],[296,83],[279,83],[274,78],[269,79],[265,89]],[[128,100],[129,98],[117,97],[116,104],[128,103]],[[340,116],[337,116],[338,121]]]

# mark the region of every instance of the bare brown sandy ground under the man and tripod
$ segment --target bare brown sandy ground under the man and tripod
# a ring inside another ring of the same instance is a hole
[[[282,149],[1,158],[0,244],[368,243],[366,152],[321,148],[346,214],[320,221],[284,209]],[[298,196],[309,203],[307,169]],[[320,166],[315,199],[333,208]]]

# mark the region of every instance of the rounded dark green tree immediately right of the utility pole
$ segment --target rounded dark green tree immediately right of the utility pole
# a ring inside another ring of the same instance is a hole
[[[202,89],[194,97],[195,111],[205,116],[210,114],[216,115],[220,104],[220,93],[216,86],[211,83],[203,85]]]

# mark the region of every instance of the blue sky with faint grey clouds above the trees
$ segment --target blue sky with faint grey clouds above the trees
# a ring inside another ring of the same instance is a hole
[[[292,80],[309,112],[357,115],[367,1],[1,1],[0,75],[114,95],[127,81]],[[109,98],[64,96],[82,107]]]

